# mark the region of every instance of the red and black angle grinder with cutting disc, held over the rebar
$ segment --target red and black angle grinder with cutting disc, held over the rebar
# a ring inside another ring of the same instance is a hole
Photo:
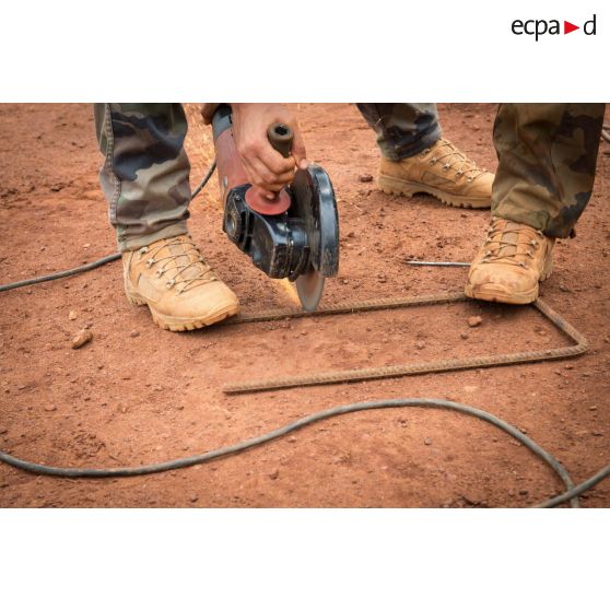
[[[232,125],[231,107],[222,104],[212,128],[224,203],[223,230],[267,275],[295,282],[303,308],[314,312],[325,278],[339,271],[339,216],[330,178],[318,165],[309,165],[297,169],[275,199],[267,199],[248,183]],[[273,124],[267,136],[282,156],[290,156],[293,133],[289,126]]]

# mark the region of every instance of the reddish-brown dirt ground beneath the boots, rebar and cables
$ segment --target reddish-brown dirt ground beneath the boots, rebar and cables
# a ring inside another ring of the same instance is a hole
[[[339,198],[341,270],[327,282],[322,303],[461,290],[466,270],[404,261],[470,260],[489,211],[379,192],[359,180],[376,173],[378,153],[356,108],[312,104],[298,112],[308,156],[329,172]],[[490,105],[439,106],[445,136],[490,169],[494,112]],[[203,128],[191,129],[193,185],[211,157],[209,140]],[[584,356],[228,397],[221,390],[225,383],[271,373],[566,340],[530,308],[477,302],[171,333],[155,327],[145,308],[127,303],[114,262],[0,295],[0,448],[49,465],[139,465],[203,453],[333,404],[435,397],[504,418],[580,481],[610,460],[609,156],[610,145],[602,142],[578,236],[559,243],[555,272],[542,289],[550,305],[589,339]],[[114,251],[89,106],[0,105],[0,283]],[[196,241],[244,310],[293,303],[224,236],[215,180],[191,212]],[[483,317],[480,327],[468,327],[472,315]],[[71,337],[85,325],[93,341],[72,350]],[[424,409],[344,415],[236,457],[144,478],[47,479],[0,466],[4,507],[523,506],[561,491],[544,465],[498,430]],[[582,504],[610,506],[610,481]]]

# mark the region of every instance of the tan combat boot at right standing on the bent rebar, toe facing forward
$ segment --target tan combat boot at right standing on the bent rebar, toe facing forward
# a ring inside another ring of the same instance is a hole
[[[466,295],[525,305],[553,270],[555,241],[527,224],[493,218],[468,274]]]

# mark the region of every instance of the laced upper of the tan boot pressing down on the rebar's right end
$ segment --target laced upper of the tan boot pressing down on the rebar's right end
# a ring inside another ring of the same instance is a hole
[[[519,236],[531,232],[535,236],[520,241]],[[539,238],[537,238],[538,236]],[[533,260],[533,253],[540,247],[543,233],[523,224],[494,219],[488,230],[485,246],[490,246],[481,262],[503,262],[528,268]],[[493,248],[493,249],[492,249]]]

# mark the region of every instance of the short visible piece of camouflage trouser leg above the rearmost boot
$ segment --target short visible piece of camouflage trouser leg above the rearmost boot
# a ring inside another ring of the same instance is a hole
[[[435,104],[356,104],[391,161],[413,156],[441,138]]]

